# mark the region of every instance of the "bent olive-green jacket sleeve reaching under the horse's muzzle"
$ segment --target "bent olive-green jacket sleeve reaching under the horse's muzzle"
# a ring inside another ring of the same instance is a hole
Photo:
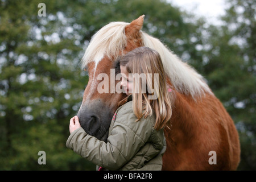
[[[119,169],[133,158],[150,137],[151,122],[147,121],[150,117],[138,122],[135,122],[136,119],[133,111],[119,110],[107,143],[80,128],[71,133],[66,146],[98,166]]]

